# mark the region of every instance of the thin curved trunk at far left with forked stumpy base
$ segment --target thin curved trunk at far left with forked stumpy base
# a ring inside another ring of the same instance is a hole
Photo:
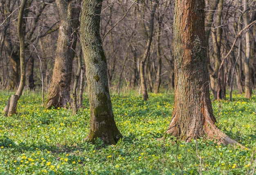
[[[16,114],[17,112],[17,103],[20,99],[22,91],[25,87],[26,82],[26,60],[25,60],[25,41],[24,41],[24,32],[22,29],[23,24],[23,13],[26,6],[27,0],[22,0],[20,5],[20,10],[18,14],[18,22],[17,22],[17,31],[18,38],[20,41],[20,84],[18,89],[16,90],[16,94],[11,96],[11,101],[8,100],[6,107],[4,108],[4,113],[8,116],[12,114]]]

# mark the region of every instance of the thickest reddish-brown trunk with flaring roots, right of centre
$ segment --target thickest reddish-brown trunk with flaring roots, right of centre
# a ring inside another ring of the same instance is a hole
[[[204,137],[238,144],[215,125],[208,86],[204,0],[175,0],[173,31],[174,110],[166,132],[185,141]]]

